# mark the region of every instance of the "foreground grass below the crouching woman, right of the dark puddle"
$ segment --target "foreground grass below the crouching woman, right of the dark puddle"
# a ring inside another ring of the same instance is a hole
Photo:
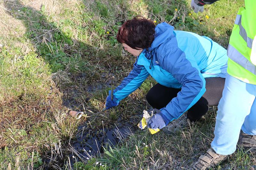
[[[95,162],[106,164],[110,169],[191,169],[198,157],[210,147],[214,137],[215,116],[216,108],[210,108],[203,120],[190,122],[178,135],[161,132],[151,135],[148,130],[132,133],[121,144],[105,151],[104,156]],[[255,167],[254,156],[238,148],[228,160],[214,169],[251,167]]]

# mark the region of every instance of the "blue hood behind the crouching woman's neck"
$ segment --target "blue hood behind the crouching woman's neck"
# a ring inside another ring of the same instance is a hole
[[[166,39],[168,39],[171,35],[173,35],[174,27],[163,22],[161,24],[156,25],[155,28],[155,39],[152,42],[151,46],[148,48],[149,51],[155,49],[156,47],[163,44]]]

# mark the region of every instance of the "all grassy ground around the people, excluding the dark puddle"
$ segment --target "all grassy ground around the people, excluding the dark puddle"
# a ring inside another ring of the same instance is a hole
[[[216,108],[177,136],[133,132],[101,157],[81,158],[73,166],[69,142],[82,122],[90,121],[88,128],[94,130],[102,120],[105,128],[131,119],[136,125],[137,114],[149,108],[145,95],[156,83],[152,78],[118,107],[101,111],[108,90],[129,74],[135,61],[115,38],[124,21],[143,15],[227,47],[243,3],[222,0],[196,14],[189,0],[0,0],[0,168],[191,168],[210,147]],[[69,110],[88,117],[75,120]],[[255,164],[252,155],[238,150],[216,168],[250,169]]]

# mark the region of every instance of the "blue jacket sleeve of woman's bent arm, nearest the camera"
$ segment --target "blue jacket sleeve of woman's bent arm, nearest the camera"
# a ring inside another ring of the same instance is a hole
[[[179,118],[192,107],[205,92],[205,79],[201,74],[192,53],[185,53],[180,48],[169,50],[162,60],[162,67],[181,83],[177,97],[163,109],[162,114],[171,122]]]

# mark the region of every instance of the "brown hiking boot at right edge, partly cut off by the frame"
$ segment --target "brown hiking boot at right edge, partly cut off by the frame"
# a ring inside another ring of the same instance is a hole
[[[256,135],[248,135],[241,131],[238,145],[245,149],[249,148],[251,153],[256,153]]]

